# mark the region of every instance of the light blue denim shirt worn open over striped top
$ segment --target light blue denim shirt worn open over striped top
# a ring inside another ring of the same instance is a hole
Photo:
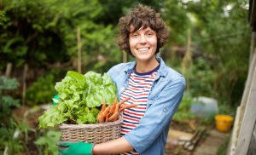
[[[140,154],[163,155],[166,138],[174,112],[183,97],[185,79],[181,74],[166,66],[158,57],[160,69],[148,95],[147,110],[136,129],[124,135],[131,146]],[[113,66],[108,75],[118,89],[118,98],[128,86],[129,76],[136,62]]]

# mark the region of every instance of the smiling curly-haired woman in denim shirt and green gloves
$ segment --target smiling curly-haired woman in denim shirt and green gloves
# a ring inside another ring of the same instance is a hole
[[[119,100],[138,104],[123,112],[121,135],[102,144],[65,143],[61,154],[164,154],[174,112],[182,100],[185,80],[157,57],[168,31],[160,14],[139,4],[119,20],[119,48],[136,61],[113,66],[108,75]],[[122,153],[125,152],[125,153]]]

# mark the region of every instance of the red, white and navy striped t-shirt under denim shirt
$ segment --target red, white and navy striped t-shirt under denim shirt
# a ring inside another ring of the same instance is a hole
[[[121,135],[128,134],[137,127],[140,119],[143,118],[147,108],[148,94],[154,82],[155,76],[160,66],[145,73],[133,70],[129,78],[129,84],[121,94],[121,100],[131,97],[124,104],[137,104],[138,106],[123,111],[123,123],[121,123]],[[138,154],[137,152],[126,152],[121,154]]]

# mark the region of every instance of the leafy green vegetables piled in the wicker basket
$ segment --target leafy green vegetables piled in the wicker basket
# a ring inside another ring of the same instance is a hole
[[[60,100],[38,118],[39,128],[54,127],[60,123],[96,123],[96,117],[104,99],[113,103],[116,86],[108,74],[69,71],[55,84]],[[53,99],[54,100],[54,99]]]

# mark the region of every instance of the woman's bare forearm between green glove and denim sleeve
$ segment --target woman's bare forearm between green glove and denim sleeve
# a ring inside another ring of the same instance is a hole
[[[113,141],[96,144],[92,149],[92,154],[111,154],[119,152],[129,152],[132,150],[133,148],[130,143],[126,141],[124,137],[120,137],[119,139]]]

